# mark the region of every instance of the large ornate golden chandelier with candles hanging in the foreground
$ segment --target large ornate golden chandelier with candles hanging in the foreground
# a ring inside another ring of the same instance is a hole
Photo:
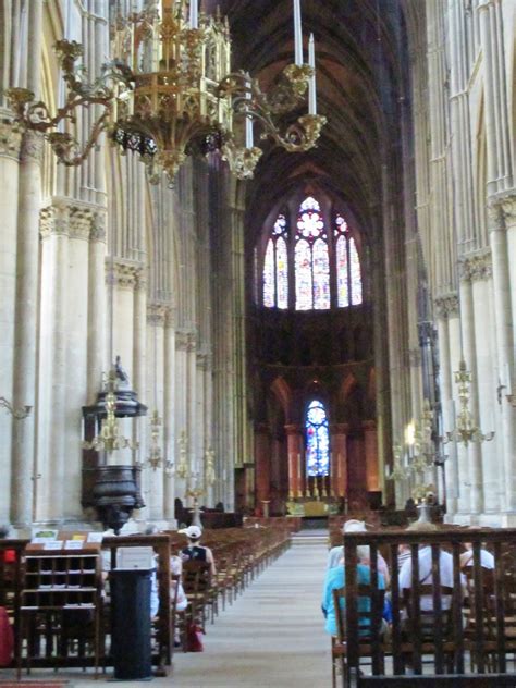
[[[197,1],[161,0],[161,11],[149,7],[119,17],[115,58],[93,83],[75,64],[82,46],[60,40],[56,51],[67,86],[64,105],[52,115],[32,91],[11,88],[7,95],[16,121],[42,132],[66,165],[81,164],[107,132],[124,151],[140,156],[151,182],[164,172],[172,183],[188,155],[212,150],[221,151],[238,179],[251,177],[262,155],[255,146],[255,125],[260,139],[272,139],[287,151],[312,148],[325,118],[316,112],[312,39],[309,64],[303,62],[299,0],[294,0],[295,64],[283,70],[267,94],[245,72],[231,72],[228,21],[199,14]],[[285,124],[307,87],[308,113]],[[90,106],[99,114],[88,139],[79,144],[74,136],[77,108]]]

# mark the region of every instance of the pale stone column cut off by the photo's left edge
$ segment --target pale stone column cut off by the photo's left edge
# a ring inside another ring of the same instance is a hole
[[[14,325],[16,302],[16,220],[13,199],[19,195],[19,160],[21,134],[0,110],[0,217],[2,248],[0,250],[0,395],[13,401]],[[32,414],[34,415],[34,408]],[[12,418],[0,409],[0,523],[9,523],[11,507]],[[16,420],[14,422],[26,422]]]

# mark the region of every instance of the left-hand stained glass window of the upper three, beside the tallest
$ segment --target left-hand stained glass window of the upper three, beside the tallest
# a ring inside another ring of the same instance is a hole
[[[263,260],[263,306],[288,308],[287,226],[284,214],[279,214],[267,243]]]

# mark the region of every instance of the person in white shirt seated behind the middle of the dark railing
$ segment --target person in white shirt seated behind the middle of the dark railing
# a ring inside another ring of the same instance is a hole
[[[429,524],[425,521],[415,521],[410,524],[407,528],[407,531],[417,531],[417,532],[434,532],[438,530],[438,527],[434,524]],[[432,548],[428,543],[421,543],[419,545],[418,551],[418,561],[419,561],[419,582],[422,586],[431,586],[433,585],[433,576],[432,576]],[[440,585],[445,586],[447,588],[454,587],[453,579],[453,556],[443,550],[439,552],[439,568],[440,568]],[[464,587],[465,578],[460,575],[462,585]],[[400,569],[400,590],[403,593],[404,589],[410,589],[413,585],[413,562],[411,557],[408,556],[402,568]],[[441,609],[443,611],[449,610],[452,605],[452,597],[443,595],[441,599]],[[425,594],[421,595],[420,600],[420,610],[422,612],[431,612],[433,610],[433,595]]]

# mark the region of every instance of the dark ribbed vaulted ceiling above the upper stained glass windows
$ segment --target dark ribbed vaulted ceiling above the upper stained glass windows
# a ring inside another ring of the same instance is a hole
[[[293,61],[292,0],[211,4],[229,19],[234,67],[267,88]],[[318,112],[328,124],[306,153],[267,148],[248,188],[249,217],[263,219],[293,185],[316,180],[367,225],[369,209],[381,202],[382,164],[401,148],[400,103],[408,96],[404,1],[302,0],[302,14],[305,60],[309,34],[316,39]]]

